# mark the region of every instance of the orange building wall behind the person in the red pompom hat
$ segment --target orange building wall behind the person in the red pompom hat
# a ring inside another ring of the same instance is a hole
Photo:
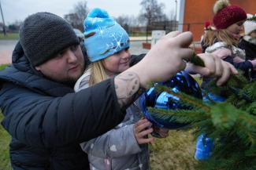
[[[194,35],[194,41],[199,41],[206,20],[213,19],[213,5],[216,0],[185,0],[184,4],[184,27],[190,24],[189,31]],[[246,13],[256,13],[256,0],[229,0],[232,5],[239,5]]]

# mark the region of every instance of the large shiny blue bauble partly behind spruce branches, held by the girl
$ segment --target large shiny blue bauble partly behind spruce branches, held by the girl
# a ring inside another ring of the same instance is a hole
[[[185,71],[180,71],[173,78],[170,78],[169,81],[160,82],[158,84],[169,87],[173,92],[184,92],[187,95],[195,96],[198,99],[202,99],[202,91],[197,81],[195,81],[195,79],[192,78],[191,75],[187,74]],[[179,103],[179,100],[179,97],[173,96],[168,92],[156,92],[154,87],[152,87],[143,94],[140,99],[140,103],[142,106],[143,114],[154,125],[157,125],[159,128],[176,129],[182,128],[187,124],[181,124],[176,122],[175,120],[169,122],[166,120],[155,118],[147,110],[147,107],[155,107],[166,110],[192,109],[191,107],[181,105]]]

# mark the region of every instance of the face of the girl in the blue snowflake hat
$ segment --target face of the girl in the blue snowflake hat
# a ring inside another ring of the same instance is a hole
[[[109,76],[119,74],[128,69],[131,54],[128,49],[123,49],[102,60],[102,65],[106,69]]]

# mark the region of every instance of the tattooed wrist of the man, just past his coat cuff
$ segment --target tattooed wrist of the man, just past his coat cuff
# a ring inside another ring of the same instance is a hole
[[[139,77],[133,72],[123,72],[114,80],[118,103],[121,107],[129,106],[144,91],[139,88]]]

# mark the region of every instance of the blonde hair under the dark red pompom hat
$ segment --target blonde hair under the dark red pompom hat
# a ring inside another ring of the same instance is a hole
[[[226,30],[209,30],[206,33],[204,45],[213,45],[216,41],[225,42],[228,46],[238,45],[238,41]]]

